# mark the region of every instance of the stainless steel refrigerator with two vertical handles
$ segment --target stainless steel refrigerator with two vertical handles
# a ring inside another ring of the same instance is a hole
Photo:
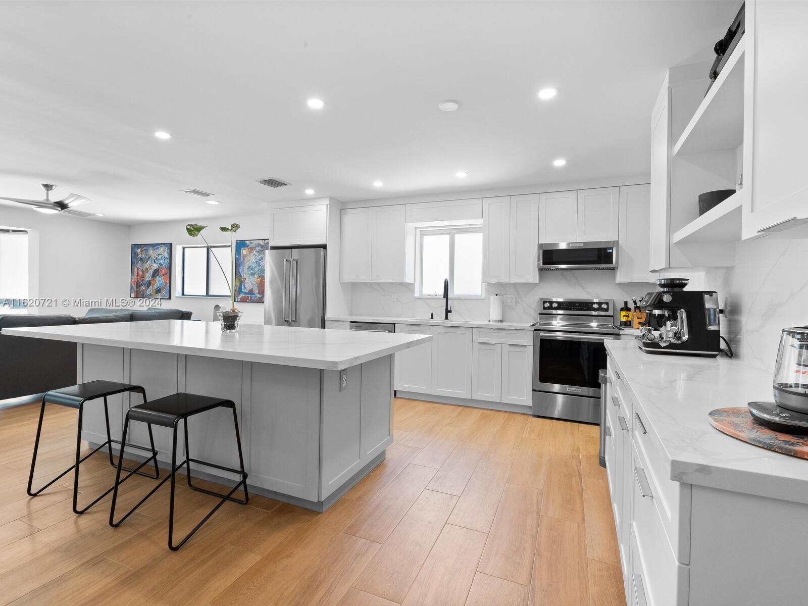
[[[267,250],[263,323],[323,328],[326,315],[326,250]]]

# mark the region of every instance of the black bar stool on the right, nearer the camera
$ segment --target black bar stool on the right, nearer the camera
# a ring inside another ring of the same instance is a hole
[[[188,448],[188,417],[192,415],[199,415],[201,412],[205,412],[207,410],[213,410],[214,408],[218,407],[225,407],[233,410],[233,422],[234,427],[236,430],[236,445],[238,446],[238,461],[241,465],[241,469],[230,469],[229,467],[222,467],[221,465],[215,465],[213,463],[208,463],[206,461],[200,461],[199,459],[191,459],[190,450]],[[163,478],[162,481],[149,492],[146,494],[143,499],[137,505],[135,505],[132,509],[130,509],[120,520],[117,522],[115,521],[115,505],[116,500],[118,498],[118,486],[120,486],[121,482],[124,482],[129,476],[132,475],[132,472],[128,473],[127,476],[124,477],[123,480],[120,479],[120,470],[121,464],[120,461],[123,461],[124,458],[124,449],[121,447],[120,457],[118,458],[118,473],[116,473],[115,478],[115,487],[112,491],[112,508],[109,511],[109,524],[112,528],[117,528],[120,524],[123,523],[129,516],[133,514],[133,512],[140,507],[143,503],[146,502],[149,497],[154,494],[160,486],[166,483],[167,480],[171,480],[171,497],[168,509],[168,548],[172,551],[176,551],[180,547],[185,544],[185,541],[191,538],[191,536],[202,527],[202,524],[208,521],[210,516],[213,516],[214,513],[217,512],[219,507],[225,504],[225,501],[233,501],[234,503],[240,503],[245,505],[247,501],[250,499],[250,495],[247,494],[247,474],[244,470],[244,457],[242,456],[242,439],[241,435],[238,432],[238,417],[236,416],[236,405],[232,400],[223,400],[221,398],[211,398],[210,396],[200,396],[194,393],[175,393],[174,395],[166,396],[166,398],[160,398],[158,400],[152,400],[151,402],[144,402],[143,404],[138,404],[137,406],[133,406],[128,410],[126,413],[126,421],[124,422],[124,441],[126,440],[126,432],[128,431],[129,421],[140,421],[141,423],[149,423],[154,425],[162,425],[162,427],[172,427],[174,430],[174,439],[171,442],[171,471],[170,474]],[[177,431],[179,428],[179,422],[182,421],[185,427],[185,461],[177,465]],[[127,444],[128,445],[128,444]],[[194,486],[191,483],[191,463],[197,463],[200,465],[206,465],[208,467],[214,467],[216,469],[221,469],[222,471],[229,471],[230,473],[238,473],[241,480],[239,480],[238,484],[233,487],[232,490],[229,491],[228,494],[220,494],[218,492],[213,492],[212,490],[205,490],[204,488],[200,488]],[[183,468],[185,465],[185,473],[187,475],[187,482],[188,486],[190,486],[193,490],[197,492],[204,492],[204,494],[211,494],[215,497],[219,497],[221,500],[217,503],[216,507],[208,513],[207,516],[204,516],[202,521],[188,532],[185,538],[182,541],[179,541],[178,545],[174,545],[174,489],[175,489],[175,476],[179,469]],[[244,490],[244,499],[234,499],[233,494],[238,490],[238,487],[242,486]]]

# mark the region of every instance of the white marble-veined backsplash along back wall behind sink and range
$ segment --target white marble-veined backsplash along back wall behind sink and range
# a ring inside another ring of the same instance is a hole
[[[489,297],[515,295],[516,305],[503,308],[506,322],[536,322],[541,297],[614,299],[617,309],[631,297],[642,297],[655,290],[655,284],[615,284],[614,271],[543,271],[539,284],[487,284],[484,299],[450,299],[452,315],[460,320],[487,320]],[[396,301],[393,301],[393,294]],[[629,303],[630,305],[630,303]],[[443,299],[415,297],[413,284],[354,283],[351,314],[357,316],[396,316],[400,318],[443,318]]]

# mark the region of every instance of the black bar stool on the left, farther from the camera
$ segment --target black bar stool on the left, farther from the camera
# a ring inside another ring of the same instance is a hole
[[[43,490],[45,490],[48,486],[56,482],[59,478],[68,473],[70,469],[75,469],[74,481],[73,481],[73,511],[76,514],[82,514],[90,507],[98,503],[101,499],[103,499],[107,494],[112,492],[112,489],[115,486],[110,486],[109,490],[101,494],[97,499],[95,499],[92,503],[83,507],[82,509],[78,508],[78,468],[81,465],[82,461],[85,461],[87,458],[91,457],[98,452],[104,446],[107,446],[107,450],[109,453],[109,464],[112,467],[120,467],[120,462],[122,458],[119,457],[118,463],[113,460],[112,458],[112,444],[121,444],[121,440],[112,440],[112,435],[109,431],[109,407],[107,406],[107,397],[116,395],[116,393],[124,393],[124,392],[137,392],[140,393],[143,397],[143,402],[146,401],[146,392],[140,385],[128,385],[128,383],[116,383],[114,381],[90,381],[88,383],[81,383],[79,385],[71,385],[70,387],[63,387],[61,389],[53,389],[53,391],[48,391],[47,393],[42,396],[42,408],[40,410],[40,423],[36,426],[36,441],[34,442],[34,456],[31,461],[31,473],[28,475],[28,488],[27,493],[29,496],[35,497],[37,494],[40,494]],[[82,452],[82,417],[84,415],[84,402],[89,402],[90,400],[96,400],[98,398],[103,398],[103,415],[104,421],[107,424],[107,441],[101,444],[99,447],[92,450],[89,454],[86,454],[84,457],[81,456]],[[32,483],[34,481],[34,468],[36,467],[36,454],[39,452],[40,449],[40,435],[42,433],[42,420],[44,419],[45,415],[45,404],[58,404],[59,406],[69,406],[70,408],[78,408],[78,428],[76,430],[76,462],[73,465],[70,465],[65,471],[57,475],[56,478],[53,478],[50,482],[42,486],[39,490],[32,491]],[[125,440],[125,434],[124,434]],[[154,448],[154,437],[152,436],[151,425],[149,425],[149,443],[151,444],[151,448],[145,448],[143,446],[138,446],[137,444],[126,444],[131,448],[140,448],[141,450],[151,452],[151,456],[147,458],[141,465],[139,465],[135,469],[127,469],[132,473],[138,473],[139,475],[145,476],[146,478],[153,478],[157,479],[160,477],[160,470],[157,466],[157,450]],[[124,452],[124,445],[121,444],[120,453],[123,455]],[[146,465],[149,461],[154,461],[154,475],[150,473],[141,472],[141,468]],[[130,473],[131,475],[131,473]]]

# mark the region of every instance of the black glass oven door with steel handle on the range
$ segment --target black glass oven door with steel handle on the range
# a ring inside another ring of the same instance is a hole
[[[613,337],[548,333],[533,335],[533,389],[568,395],[600,397],[598,373],[606,368],[604,340]]]

